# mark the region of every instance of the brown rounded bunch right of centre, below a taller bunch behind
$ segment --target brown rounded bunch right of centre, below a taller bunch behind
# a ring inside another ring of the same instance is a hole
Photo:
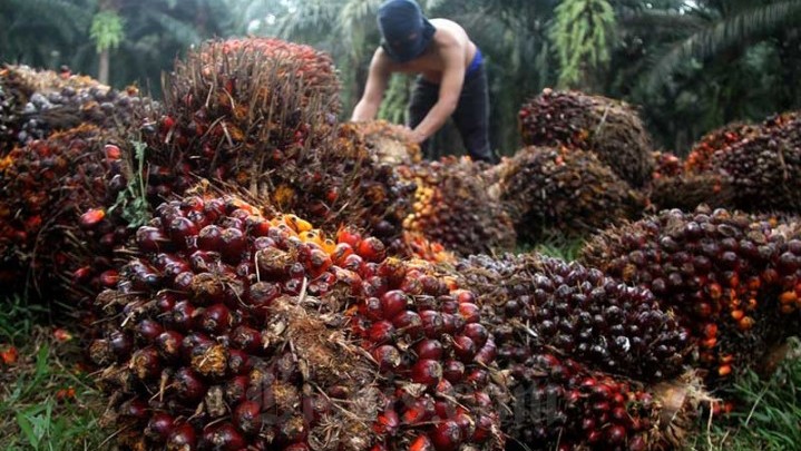
[[[528,146],[496,171],[492,193],[518,235],[535,243],[551,231],[582,236],[638,216],[645,207],[642,195],[584,150]]]

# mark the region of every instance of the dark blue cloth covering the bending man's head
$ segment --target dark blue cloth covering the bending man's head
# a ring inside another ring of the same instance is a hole
[[[383,38],[381,47],[398,62],[419,57],[437,31],[413,0],[384,1],[379,8],[378,21]]]

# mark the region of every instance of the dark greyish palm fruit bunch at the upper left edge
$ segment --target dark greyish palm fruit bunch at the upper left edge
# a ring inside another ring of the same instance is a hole
[[[81,124],[124,127],[143,107],[135,87],[118,91],[68,71],[7,66],[0,69],[0,153]]]

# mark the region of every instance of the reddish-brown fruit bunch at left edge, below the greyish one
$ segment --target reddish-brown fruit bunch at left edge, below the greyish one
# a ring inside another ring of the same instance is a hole
[[[3,286],[32,287],[69,304],[86,298],[84,306],[114,286],[114,251],[133,234],[133,217],[124,216],[131,209],[111,208],[133,179],[120,146],[116,134],[82,125],[0,158]]]

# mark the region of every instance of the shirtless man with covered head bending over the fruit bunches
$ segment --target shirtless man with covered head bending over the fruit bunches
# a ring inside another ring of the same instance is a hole
[[[495,163],[487,73],[481,51],[465,30],[448,19],[429,21],[414,0],[384,1],[378,22],[381,46],[351,120],[375,117],[392,72],[419,73],[409,105],[412,139],[424,151],[428,138],[452,116],[470,157]]]

